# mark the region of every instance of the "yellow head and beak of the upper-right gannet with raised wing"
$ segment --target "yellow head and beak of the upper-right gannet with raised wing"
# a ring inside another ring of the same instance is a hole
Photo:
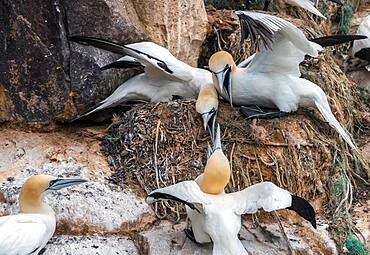
[[[236,70],[233,57],[226,51],[216,52],[208,61],[208,66],[213,73],[213,82],[216,84],[221,95],[225,91],[226,96],[232,105],[232,84],[231,74]]]

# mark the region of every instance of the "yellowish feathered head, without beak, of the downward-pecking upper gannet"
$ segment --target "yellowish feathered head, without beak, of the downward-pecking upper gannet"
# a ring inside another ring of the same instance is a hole
[[[195,109],[199,114],[218,109],[218,94],[213,84],[202,85],[199,91]]]

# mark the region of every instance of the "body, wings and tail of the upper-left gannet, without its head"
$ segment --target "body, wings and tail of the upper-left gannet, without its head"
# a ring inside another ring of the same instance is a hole
[[[167,49],[153,42],[121,45],[94,37],[71,36],[69,40],[125,55],[102,69],[143,66],[145,72],[120,85],[109,97],[100,102],[93,112],[117,106],[128,101],[167,102],[173,96],[196,98],[202,84],[212,83],[212,74],[192,67],[175,58]]]

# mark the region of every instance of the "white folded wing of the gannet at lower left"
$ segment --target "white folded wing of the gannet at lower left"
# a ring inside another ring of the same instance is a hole
[[[32,215],[0,218],[0,254],[32,254],[45,244],[46,226]]]

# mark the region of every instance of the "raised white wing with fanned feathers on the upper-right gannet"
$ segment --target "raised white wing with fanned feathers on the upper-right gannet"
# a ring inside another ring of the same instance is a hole
[[[259,50],[247,66],[248,72],[301,76],[299,63],[305,55],[316,57],[322,47],[307,40],[301,30],[276,16],[237,11],[241,41],[250,38]]]

